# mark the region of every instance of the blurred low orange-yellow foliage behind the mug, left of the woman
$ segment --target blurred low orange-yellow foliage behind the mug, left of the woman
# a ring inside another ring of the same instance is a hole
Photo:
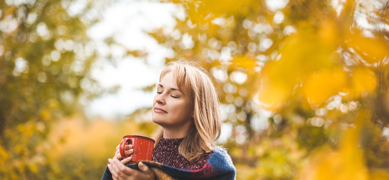
[[[55,167],[53,179],[99,180],[103,177],[108,158],[112,158],[116,146],[127,134],[150,136],[157,125],[148,122],[124,122],[96,119],[80,121],[73,116],[56,123],[50,133],[49,142],[54,144],[49,154]],[[131,127],[131,128],[129,128]],[[58,142],[58,139],[63,142]],[[47,176],[50,178],[50,176]]]

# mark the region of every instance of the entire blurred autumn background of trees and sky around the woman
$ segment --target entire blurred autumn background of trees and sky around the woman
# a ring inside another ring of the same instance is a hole
[[[101,179],[184,57],[237,180],[388,180],[388,54],[388,0],[0,0],[0,179]]]

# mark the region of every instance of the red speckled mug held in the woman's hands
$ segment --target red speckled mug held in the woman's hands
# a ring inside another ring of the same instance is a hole
[[[131,144],[132,149],[134,150],[130,156],[126,156],[124,153],[124,145],[126,142]],[[153,157],[154,143],[155,141],[153,139],[145,136],[126,135],[123,137],[122,142],[120,142],[120,155],[122,158],[131,157],[130,163],[151,161],[151,158]]]

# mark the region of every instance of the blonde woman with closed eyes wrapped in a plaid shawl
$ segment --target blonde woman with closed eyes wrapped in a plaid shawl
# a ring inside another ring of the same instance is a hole
[[[152,159],[157,163],[140,162],[135,169],[129,168],[124,164],[130,159],[122,160],[118,146],[103,179],[110,178],[109,174],[113,180],[160,179],[150,165],[178,179],[235,179],[230,156],[213,143],[222,123],[217,93],[207,72],[197,64],[178,60],[166,65],[159,77],[152,120],[160,126]],[[126,155],[132,154],[131,145],[125,149]]]

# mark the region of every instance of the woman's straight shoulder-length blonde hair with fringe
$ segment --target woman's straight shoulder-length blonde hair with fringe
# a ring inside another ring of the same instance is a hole
[[[166,64],[159,81],[168,72],[173,72],[178,88],[181,88],[182,82],[185,83],[194,105],[195,127],[182,140],[178,153],[189,161],[195,161],[216,148],[213,142],[219,138],[222,124],[219,99],[208,72],[195,62],[179,59]],[[160,127],[154,134],[154,147],[157,147],[162,135],[163,128]]]

